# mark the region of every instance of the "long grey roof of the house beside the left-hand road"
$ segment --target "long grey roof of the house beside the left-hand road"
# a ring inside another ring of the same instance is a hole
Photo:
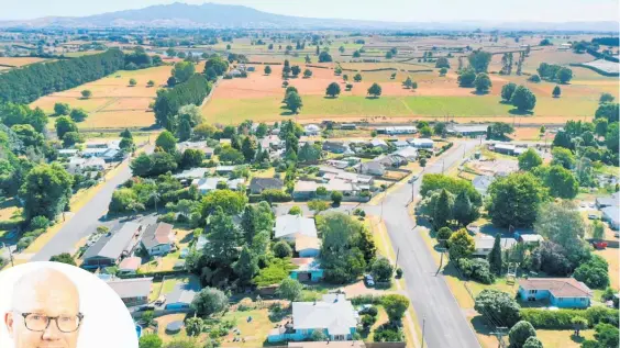
[[[91,257],[100,257],[100,258],[109,258],[109,259],[118,259],[121,257],[123,251],[125,251],[134,237],[134,235],[140,229],[140,224],[137,223],[125,223],[121,228],[117,232],[112,232],[109,236],[106,235],[97,243],[95,243],[84,254],[82,259],[89,259]]]

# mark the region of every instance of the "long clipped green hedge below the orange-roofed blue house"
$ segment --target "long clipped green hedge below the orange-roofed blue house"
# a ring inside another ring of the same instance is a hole
[[[619,311],[602,306],[593,306],[587,310],[557,310],[549,311],[542,308],[522,308],[521,319],[530,322],[534,328],[546,329],[571,329],[571,321],[575,316],[585,317],[588,326],[594,327],[599,323],[611,324],[618,327]]]

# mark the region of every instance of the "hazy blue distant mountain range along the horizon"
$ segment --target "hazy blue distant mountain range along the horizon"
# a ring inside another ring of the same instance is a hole
[[[267,13],[243,5],[171,3],[81,18],[46,16],[0,21],[0,27],[212,27],[212,29],[362,29],[362,30],[514,30],[618,32],[617,22],[379,22],[311,19]]]

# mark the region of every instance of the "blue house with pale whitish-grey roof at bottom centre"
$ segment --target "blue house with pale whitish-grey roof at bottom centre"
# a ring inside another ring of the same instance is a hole
[[[273,329],[267,341],[308,340],[315,330],[322,332],[330,341],[352,340],[358,317],[344,294],[326,294],[315,302],[294,302],[292,322]]]

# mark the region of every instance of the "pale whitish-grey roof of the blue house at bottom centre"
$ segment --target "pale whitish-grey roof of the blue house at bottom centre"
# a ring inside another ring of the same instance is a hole
[[[332,335],[348,335],[357,326],[355,311],[344,294],[326,294],[322,301],[294,302],[295,329],[328,329]]]

